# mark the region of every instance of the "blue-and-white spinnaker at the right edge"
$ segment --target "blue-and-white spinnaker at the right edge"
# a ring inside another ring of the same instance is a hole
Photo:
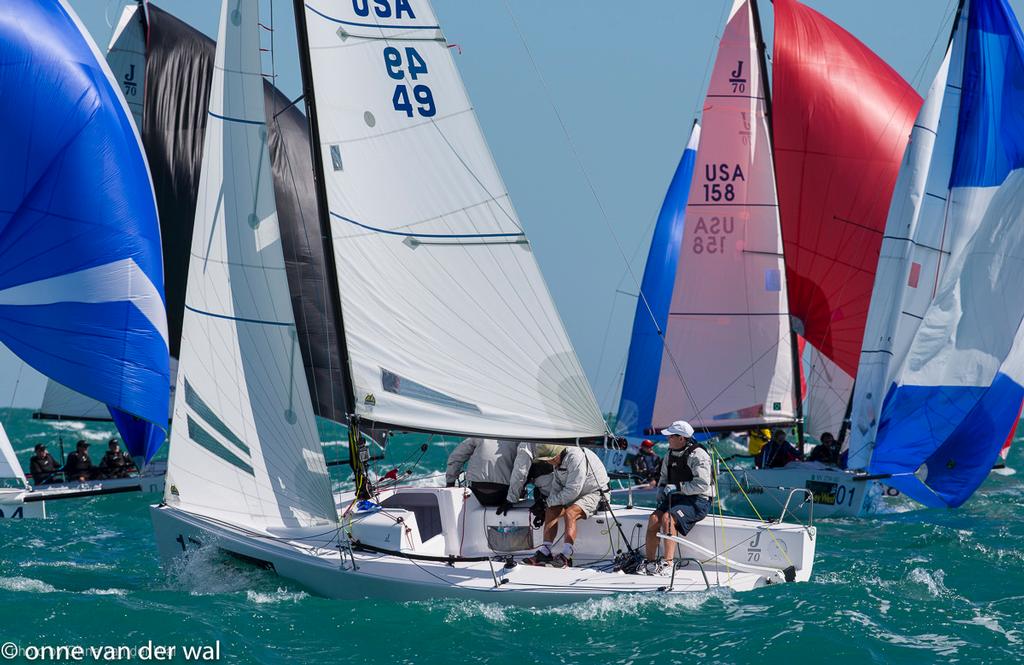
[[[888,390],[869,466],[929,506],[973,494],[1024,400],[1024,35],[1005,0],[965,10],[947,196],[962,242]]]

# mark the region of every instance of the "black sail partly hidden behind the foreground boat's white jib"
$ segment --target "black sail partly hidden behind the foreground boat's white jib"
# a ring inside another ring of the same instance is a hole
[[[147,33],[141,133],[160,209],[167,319],[176,357],[215,45],[153,4]],[[264,92],[281,241],[310,397],[316,415],[343,422],[347,372],[326,282],[308,123],[299,106],[266,81]]]

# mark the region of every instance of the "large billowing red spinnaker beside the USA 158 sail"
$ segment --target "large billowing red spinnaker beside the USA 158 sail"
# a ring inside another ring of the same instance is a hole
[[[922,105],[850,33],[775,0],[775,170],[790,310],[856,376],[896,175]]]

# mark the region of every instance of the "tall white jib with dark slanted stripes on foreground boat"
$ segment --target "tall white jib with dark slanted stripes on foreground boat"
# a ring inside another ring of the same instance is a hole
[[[262,527],[333,524],[267,152],[257,0],[224,0],[166,500]]]

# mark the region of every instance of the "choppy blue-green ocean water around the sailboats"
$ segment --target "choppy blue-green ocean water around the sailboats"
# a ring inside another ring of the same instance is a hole
[[[26,465],[57,427],[66,446],[112,433],[28,411],[0,410],[0,419]],[[329,457],[346,454],[337,434],[325,432],[335,439]],[[389,455],[415,458],[418,443],[396,441]],[[446,452],[432,445],[418,470],[440,469]],[[1024,469],[1024,446],[1009,462]],[[1022,481],[1024,470],[993,475],[955,511],[819,521],[807,584],[554,610],[328,600],[213,550],[168,572],[147,513],[156,497],[57,502],[50,519],[0,524],[0,643],[152,642],[177,647],[183,662],[182,646],[219,642],[226,663],[1021,662]],[[13,662],[29,662],[24,653]],[[116,661],[87,653],[81,662]]]

